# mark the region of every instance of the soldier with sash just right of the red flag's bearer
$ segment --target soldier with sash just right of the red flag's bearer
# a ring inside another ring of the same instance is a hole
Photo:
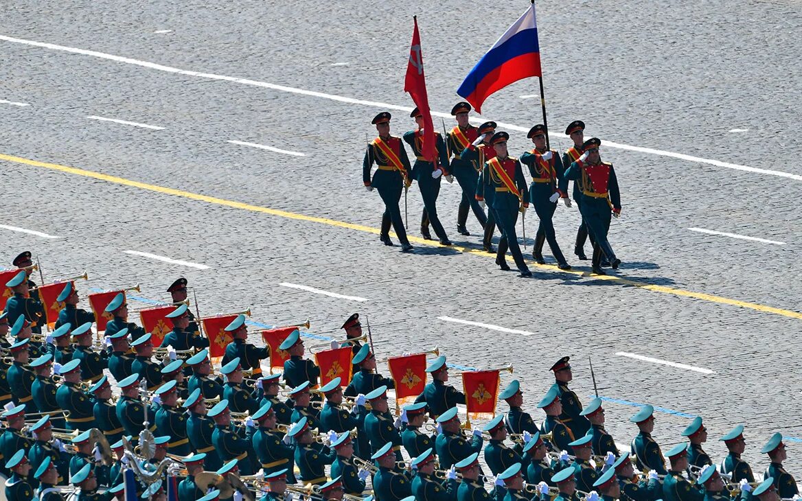
[[[479,200],[476,200],[476,182],[479,180],[481,164],[475,168],[474,164],[460,156],[460,153],[479,137],[479,129],[468,122],[468,112],[471,110],[471,105],[464,101],[456,103],[452,107],[452,116],[456,117],[457,124],[446,133],[446,152],[454,156],[454,160],[451,161],[451,172],[462,188],[462,200],[456,216],[456,231],[464,236],[471,235],[465,227],[468,210],[473,211],[483,230],[488,222],[488,216],[484,213]]]

